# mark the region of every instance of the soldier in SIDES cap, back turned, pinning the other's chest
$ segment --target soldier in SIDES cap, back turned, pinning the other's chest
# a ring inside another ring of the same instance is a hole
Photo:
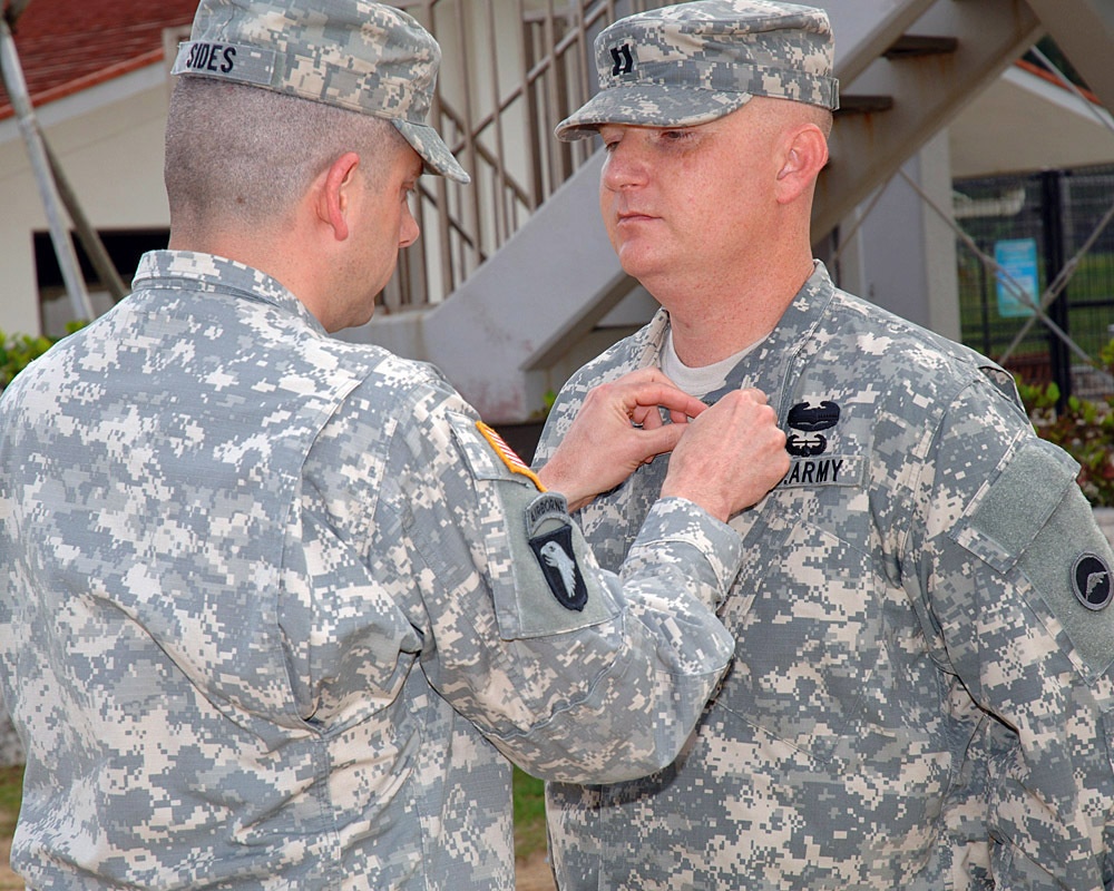
[[[730,658],[720,518],[788,467],[759,394],[701,414],[659,374],[605,388],[541,491],[434,370],[328,335],[417,238],[422,161],[467,180],[424,121],[437,65],[364,0],[205,0],[175,67],[172,249],[0,401],[30,888],[510,889],[500,753],[575,782],[656,770]],[[755,467],[720,479],[717,439],[750,424]],[[688,469],[600,570],[565,497],[678,432]]]

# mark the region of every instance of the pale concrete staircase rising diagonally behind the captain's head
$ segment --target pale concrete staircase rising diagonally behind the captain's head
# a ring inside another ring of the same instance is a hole
[[[1110,0],[821,0],[842,109],[821,177],[819,243],[1045,32],[1114,108]],[[580,167],[439,306],[354,337],[436,363],[494,423],[538,415],[545,393],[648,319],[599,222],[599,157]]]

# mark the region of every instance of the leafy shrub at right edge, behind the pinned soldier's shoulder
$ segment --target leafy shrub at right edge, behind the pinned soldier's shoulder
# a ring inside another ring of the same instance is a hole
[[[1114,341],[1103,347],[1098,364],[1114,374]],[[1018,381],[1017,390],[1037,435],[1079,462],[1079,487],[1092,506],[1114,507],[1114,395],[1100,401],[1069,396],[1057,410],[1061,392],[1055,383]]]

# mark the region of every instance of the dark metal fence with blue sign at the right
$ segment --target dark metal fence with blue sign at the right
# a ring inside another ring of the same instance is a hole
[[[1114,336],[1114,167],[957,180],[955,192],[957,223],[1008,273],[959,241],[964,343],[1028,383],[1055,381],[1065,398],[1114,392],[1095,368]],[[1029,300],[1059,290],[1051,325],[1033,320],[1018,287]]]

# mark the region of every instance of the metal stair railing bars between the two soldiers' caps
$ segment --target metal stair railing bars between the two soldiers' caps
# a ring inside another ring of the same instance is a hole
[[[419,183],[422,237],[403,252],[381,312],[443,301],[589,157],[554,128],[596,89],[592,42],[655,0],[395,0],[441,45],[432,123],[471,174]]]

